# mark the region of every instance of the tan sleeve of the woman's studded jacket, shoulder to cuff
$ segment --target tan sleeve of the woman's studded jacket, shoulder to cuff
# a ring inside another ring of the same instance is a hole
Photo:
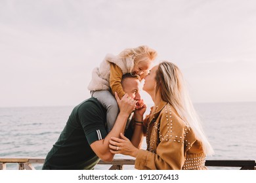
[[[182,169],[184,165],[184,127],[173,118],[166,105],[157,118],[153,118],[147,131],[147,150],[139,150],[135,161],[137,169]],[[177,123],[177,129],[175,129]],[[154,161],[153,161],[154,159]]]

